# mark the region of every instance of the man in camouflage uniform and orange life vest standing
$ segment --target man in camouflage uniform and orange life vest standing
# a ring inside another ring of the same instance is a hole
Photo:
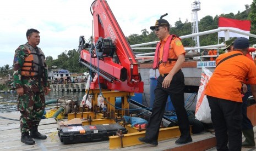
[[[32,145],[35,144],[32,138],[47,138],[38,132],[37,127],[45,111],[45,95],[49,92],[49,83],[45,55],[37,47],[40,43],[39,31],[29,29],[26,38],[28,42],[15,50],[14,87],[17,89],[18,111],[21,113],[21,142]]]

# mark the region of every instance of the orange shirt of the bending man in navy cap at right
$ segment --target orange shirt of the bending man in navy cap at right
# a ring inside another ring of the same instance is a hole
[[[236,53],[242,54],[241,51],[232,51],[220,55],[216,59],[216,65],[225,57]],[[242,83],[247,77],[248,84],[256,84],[255,70],[255,64],[244,55],[227,59],[220,66],[216,67],[208,85],[206,85],[205,94],[230,101],[242,102]]]

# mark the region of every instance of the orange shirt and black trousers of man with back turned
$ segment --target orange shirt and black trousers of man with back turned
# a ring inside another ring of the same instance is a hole
[[[233,54],[232,51],[216,59],[216,65]],[[215,68],[206,85],[211,108],[211,119],[215,128],[217,150],[241,150],[242,144],[242,96],[241,87],[247,78],[249,84],[256,84],[256,66],[244,55],[231,57]],[[228,143],[228,148],[227,148]]]

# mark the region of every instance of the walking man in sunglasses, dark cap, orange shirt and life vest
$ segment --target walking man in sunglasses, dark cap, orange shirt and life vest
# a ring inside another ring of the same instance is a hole
[[[162,18],[162,16],[161,16]],[[185,61],[184,47],[181,39],[174,34],[170,35],[170,24],[165,19],[156,20],[155,26],[150,29],[155,31],[160,42],[156,46],[153,68],[159,68],[160,76],[157,78],[155,88],[155,100],[152,114],[146,127],[145,137],[140,137],[139,141],[149,143],[152,146],[158,145],[158,135],[162,117],[168,96],[171,97],[175,108],[179,131],[181,136],[176,140],[176,144],[192,142],[187,111],[184,107],[184,74],[181,71],[182,63]]]

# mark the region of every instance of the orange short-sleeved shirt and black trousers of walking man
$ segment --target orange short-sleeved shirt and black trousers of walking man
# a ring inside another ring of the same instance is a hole
[[[159,60],[162,60],[164,45],[166,43],[168,36],[161,40],[161,46],[159,49]],[[170,50],[168,58],[177,59],[179,55],[185,54],[184,47],[179,38],[173,37],[170,44]],[[155,58],[156,59],[156,58]],[[157,78],[157,85],[155,88],[155,100],[152,108],[152,114],[148,123],[145,137],[149,140],[149,143],[157,142],[159,135],[159,127],[162,121],[162,117],[165,112],[165,106],[168,96],[170,96],[173,107],[176,110],[178,118],[178,126],[181,131],[181,139],[187,140],[190,138],[189,131],[189,121],[186,109],[184,108],[184,75],[179,69],[179,71],[173,75],[171,84],[168,88],[162,88],[162,82],[166,75],[170,73],[173,66],[175,66],[176,61],[171,61],[167,63],[160,63],[159,73],[160,76]]]

